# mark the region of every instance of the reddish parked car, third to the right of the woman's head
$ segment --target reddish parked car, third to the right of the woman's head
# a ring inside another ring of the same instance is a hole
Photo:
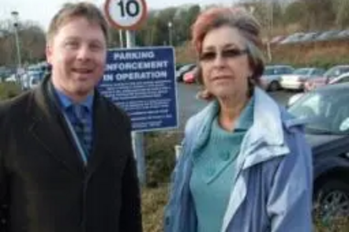
[[[318,88],[320,86],[325,86],[332,79],[339,77],[343,73],[349,72],[349,65],[337,65],[324,73],[324,75],[309,79],[304,83],[304,91],[311,91],[314,88]]]

